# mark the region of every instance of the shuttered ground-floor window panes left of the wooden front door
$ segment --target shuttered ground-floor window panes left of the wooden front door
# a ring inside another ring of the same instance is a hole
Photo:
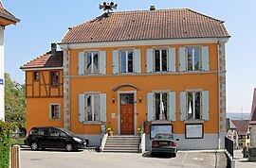
[[[87,121],[100,121],[100,95],[85,94],[85,117]]]

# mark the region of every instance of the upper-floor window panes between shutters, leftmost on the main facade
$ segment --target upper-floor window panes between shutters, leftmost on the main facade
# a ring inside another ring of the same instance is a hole
[[[99,74],[99,53],[85,52],[85,74]]]

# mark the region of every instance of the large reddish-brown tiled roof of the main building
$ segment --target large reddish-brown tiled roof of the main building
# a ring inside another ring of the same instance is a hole
[[[229,37],[223,21],[188,8],[106,15],[69,28],[61,43]]]

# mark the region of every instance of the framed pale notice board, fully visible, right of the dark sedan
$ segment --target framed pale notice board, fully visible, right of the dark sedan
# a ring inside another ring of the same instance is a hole
[[[202,139],[204,138],[203,134],[203,125],[186,125],[186,138],[187,139]]]

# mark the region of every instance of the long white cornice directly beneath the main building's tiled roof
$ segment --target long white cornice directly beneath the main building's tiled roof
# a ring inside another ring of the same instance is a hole
[[[141,45],[171,45],[171,44],[196,44],[196,43],[219,43],[229,42],[229,38],[191,38],[191,39],[168,39],[168,40],[145,40],[145,41],[120,41],[120,42],[81,42],[81,43],[58,43],[62,49],[98,48],[98,47],[123,47]]]

